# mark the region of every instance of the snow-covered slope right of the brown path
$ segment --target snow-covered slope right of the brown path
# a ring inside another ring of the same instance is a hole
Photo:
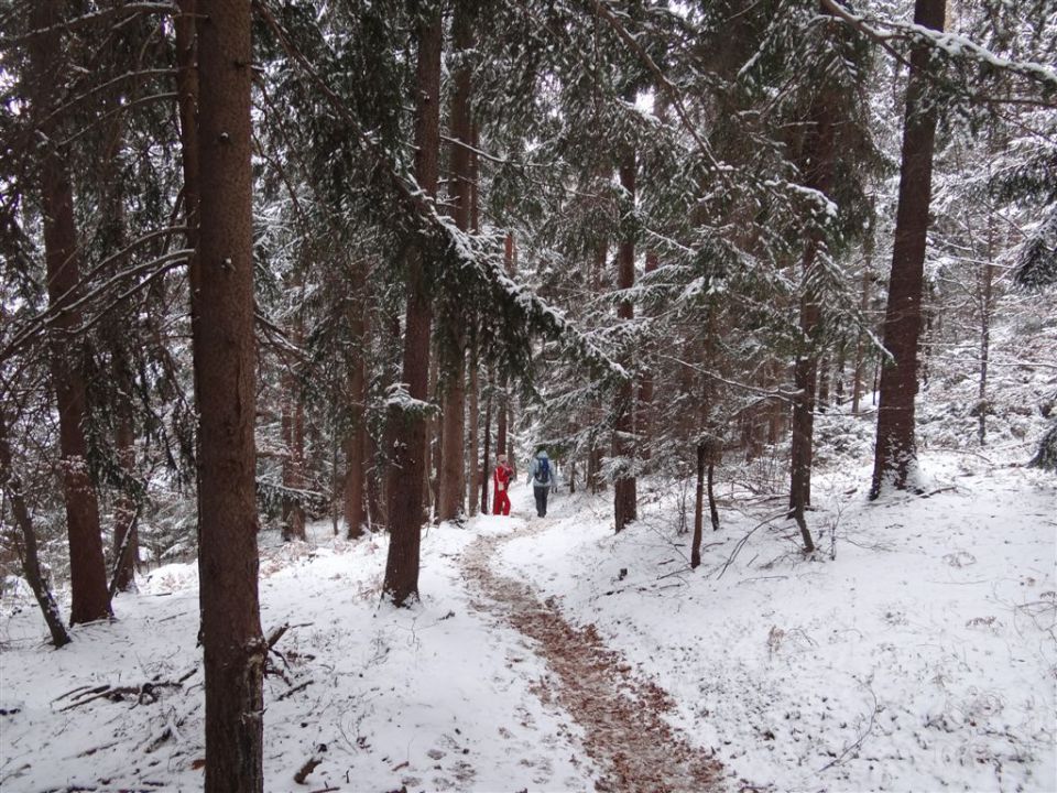
[[[1054,479],[963,455],[925,469],[933,496],[876,503],[868,469],[821,479],[821,561],[791,521],[761,525],[782,499],[735,502],[690,572],[662,499],[615,536],[567,507],[505,566],[667,689],[732,783],[1055,791]]]

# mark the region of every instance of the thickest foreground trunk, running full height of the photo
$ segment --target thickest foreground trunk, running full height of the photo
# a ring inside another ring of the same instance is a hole
[[[207,793],[263,790],[258,600],[250,0],[198,19],[198,522]]]

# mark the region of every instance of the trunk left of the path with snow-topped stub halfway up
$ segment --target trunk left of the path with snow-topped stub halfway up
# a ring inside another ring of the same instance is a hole
[[[435,8],[418,26],[418,91],[415,108],[415,177],[429,195],[437,191],[440,150],[440,50],[443,26]],[[403,381],[413,400],[425,402],[429,374],[429,329],[433,311],[426,291],[424,251],[413,248],[407,262],[407,328],[404,335]],[[394,406],[395,430],[390,447],[386,500],[391,540],[382,589],[396,606],[418,598],[418,553],[422,531],[422,486],[426,423],[415,411]]]

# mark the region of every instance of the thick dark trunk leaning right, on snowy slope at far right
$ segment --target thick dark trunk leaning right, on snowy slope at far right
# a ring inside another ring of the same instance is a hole
[[[945,11],[945,0],[916,0],[914,22],[941,31]],[[922,286],[937,118],[936,106],[928,96],[928,78],[925,74],[929,52],[930,47],[925,44],[914,47],[906,85],[900,197],[895,213],[889,304],[884,317],[884,347],[892,354],[892,359],[885,362],[881,371],[871,499],[880,496],[886,485],[898,490],[906,489],[917,463],[914,398],[917,394]]]

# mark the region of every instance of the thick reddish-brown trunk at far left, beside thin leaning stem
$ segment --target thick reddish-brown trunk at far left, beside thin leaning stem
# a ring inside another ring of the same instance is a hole
[[[44,215],[44,258],[47,265],[48,305],[68,306],[80,295],[80,254],[74,225],[74,191],[64,154],[56,149],[63,138],[53,116],[58,100],[59,75],[64,73],[59,34],[59,0],[33,3],[31,24],[47,33],[30,39],[30,67],[34,75],[34,116],[41,119],[41,204]],[[58,443],[62,455],[63,500],[69,539],[70,618],[73,624],[110,616],[107,568],[102,554],[99,504],[88,475],[88,444],[84,422],[87,412],[83,373],[84,339],[76,334],[80,311],[64,308],[51,324],[51,371],[58,408]]]

